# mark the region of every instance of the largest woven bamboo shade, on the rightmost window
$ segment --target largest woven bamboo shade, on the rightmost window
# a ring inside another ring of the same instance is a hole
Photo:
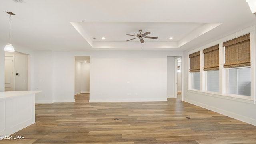
[[[250,34],[223,43],[225,47],[224,68],[251,66]]]

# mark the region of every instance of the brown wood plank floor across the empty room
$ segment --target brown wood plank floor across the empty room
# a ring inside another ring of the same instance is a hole
[[[256,126],[181,102],[36,104],[36,123],[0,144],[256,144]],[[190,117],[191,119],[187,119]],[[118,118],[119,120],[114,120]]]

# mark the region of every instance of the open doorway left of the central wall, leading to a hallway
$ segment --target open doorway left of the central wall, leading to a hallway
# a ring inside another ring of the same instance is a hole
[[[74,95],[90,94],[90,56],[75,56],[74,90]]]

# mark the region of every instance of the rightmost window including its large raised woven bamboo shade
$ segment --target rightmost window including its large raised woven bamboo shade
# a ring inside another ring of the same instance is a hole
[[[225,64],[223,67],[229,68],[228,93],[250,96],[250,34],[224,42],[223,46],[225,47]]]

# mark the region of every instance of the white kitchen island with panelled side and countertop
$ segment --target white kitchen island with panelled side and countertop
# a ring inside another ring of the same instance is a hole
[[[9,136],[35,123],[38,92],[41,91],[0,92],[0,136]]]

